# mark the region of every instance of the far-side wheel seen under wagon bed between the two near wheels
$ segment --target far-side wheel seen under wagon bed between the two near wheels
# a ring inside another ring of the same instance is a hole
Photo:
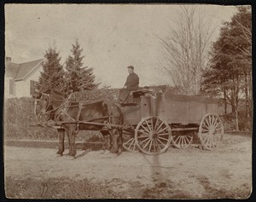
[[[172,134],[172,144],[174,147],[177,148],[186,148],[189,147],[189,145],[193,141],[193,134],[189,133],[182,133],[182,132],[176,132]]]

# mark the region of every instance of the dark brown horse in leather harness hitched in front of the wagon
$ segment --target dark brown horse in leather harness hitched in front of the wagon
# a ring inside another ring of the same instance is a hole
[[[121,153],[122,148],[122,129],[119,127],[104,126],[102,124],[123,124],[123,116],[119,106],[112,101],[96,101],[92,103],[83,103],[69,101],[71,95],[52,90],[50,94],[42,95],[38,101],[38,112],[44,114],[47,118],[60,121],[61,130],[59,130],[59,149],[60,155],[64,152],[64,136],[67,133],[69,142],[69,154],[76,155],[75,136],[79,130],[99,130],[103,136],[110,137],[108,148],[113,153]],[[35,107],[35,108],[36,108]],[[79,121],[86,121],[96,124],[79,124]],[[109,140],[109,138],[105,138]],[[111,142],[111,146],[109,145]],[[105,142],[107,143],[107,142]],[[106,145],[106,144],[105,144]]]

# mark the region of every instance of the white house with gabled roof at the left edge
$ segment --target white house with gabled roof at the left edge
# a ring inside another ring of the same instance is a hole
[[[44,59],[14,63],[5,58],[4,98],[29,97],[34,93],[34,84],[43,72]]]

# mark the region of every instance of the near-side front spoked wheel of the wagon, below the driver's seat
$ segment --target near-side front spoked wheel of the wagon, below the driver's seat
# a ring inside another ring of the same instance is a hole
[[[135,130],[137,147],[149,155],[164,153],[170,146],[172,132],[160,117],[148,117],[137,124]]]

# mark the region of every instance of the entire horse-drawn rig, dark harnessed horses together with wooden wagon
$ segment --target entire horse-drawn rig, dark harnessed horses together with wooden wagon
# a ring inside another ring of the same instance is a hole
[[[61,153],[64,130],[70,131],[70,147],[75,147],[73,134],[78,130],[99,130],[103,136],[112,136],[110,140],[115,151],[121,144],[130,152],[140,150],[147,154],[164,153],[171,143],[177,148],[188,147],[195,135],[205,149],[211,150],[224,135],[224,125],[218,116],[222,114],[222,107],[218,100],[165,93],[152,95],[147,90],[134,91],[122,105],[106,101],[74,103],[69,97],[57,101],[49,95],[46,99],[41,97],[39,101],[45,104],[37,113],[49,116],[55,113],[61,119],[50,125],[62,131]],[[73,156],[75,153],[71,151]]]

